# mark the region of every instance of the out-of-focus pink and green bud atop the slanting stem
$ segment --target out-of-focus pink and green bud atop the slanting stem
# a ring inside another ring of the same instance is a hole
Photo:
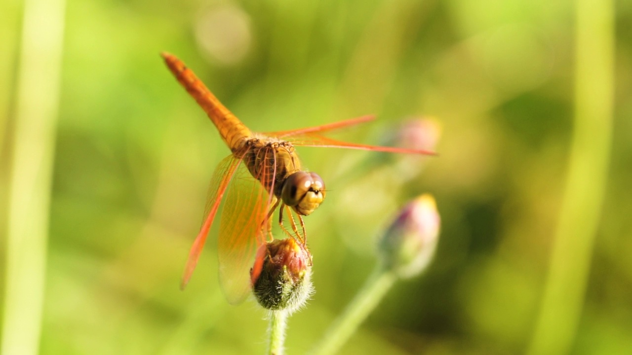
[[[408,203],[379,241],[384,268],[399,277],[420,274],[434,256],[440,224],[432,195],[424,194]]]

